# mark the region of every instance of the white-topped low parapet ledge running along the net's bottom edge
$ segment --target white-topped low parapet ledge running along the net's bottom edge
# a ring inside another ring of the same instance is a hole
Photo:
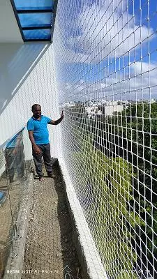
[[[69,213],[73,222],[74,239],[77,255],[82,266],[82,276],[87,279],[107,279],[107,274],[98,255],[94,239],[84,217],[82,207],[75,194],[63,158],[59,158],[59,165],[66,183],[66,199]]]

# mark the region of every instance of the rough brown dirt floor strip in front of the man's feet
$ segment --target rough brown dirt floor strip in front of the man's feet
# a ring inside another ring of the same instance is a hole
[[[22,279],[82,279],[58,163],[33,184]]]

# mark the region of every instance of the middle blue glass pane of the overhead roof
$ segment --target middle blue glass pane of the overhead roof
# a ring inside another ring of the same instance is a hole
[[[22,27],[45,27],[52,23],[52,13],[20,13],[18,17]]]

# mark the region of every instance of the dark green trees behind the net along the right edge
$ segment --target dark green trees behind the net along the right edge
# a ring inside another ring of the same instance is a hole
[[[157,258],[157,238],[152,234],[152,229],[157,232],[157,103],[132,104],[121,114],[114,115],[107,121],[103,119],[103,125],[102,119],[101,121],[99,119],[97,125],[100,130],[97,130],[94,146],[109,158],[120,157],[133,167],[134,199],[130,200],[130,206],[135,212],[140,213],[143,225],[146,221],[143,229],[141,223],[140,227],[135,226],[133,246],[136,242],[137,256],[139,256],[137,262],[140,265],[142,262],[144,264],[147,262],[146,257],[153,264],[153,250]],[[101,137],[104,138],[103,144],[100,142]],[[130,232],[133,233],[132,228]],[[140,248],[142,248],[142,255]]]

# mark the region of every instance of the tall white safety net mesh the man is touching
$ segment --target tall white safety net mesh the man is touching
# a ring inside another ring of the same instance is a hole
[[[157,278],[156,1],[59,1],[63,155],[108,278]]]

